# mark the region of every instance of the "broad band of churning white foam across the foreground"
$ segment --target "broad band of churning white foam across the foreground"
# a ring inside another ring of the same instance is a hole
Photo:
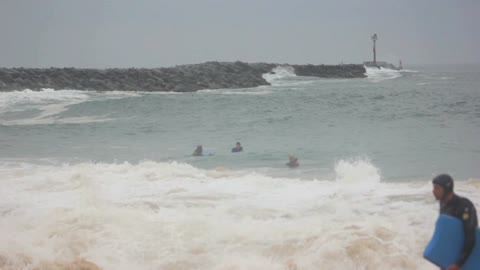
[[[435,269],[421,258],[438,213],[430,182],[381,182],[362,160],[335,169],[337,181],[301,181],[175,162],[0,164],[0,258],[12,269],[79,258],[102,269]],[[456,186],[480,203],[478,181]]]

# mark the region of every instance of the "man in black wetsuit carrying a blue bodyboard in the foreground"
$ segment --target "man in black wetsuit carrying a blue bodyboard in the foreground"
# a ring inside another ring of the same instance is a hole
[[[433,178],[433,195],[440,201],[440,214],[449,215],[463,222],[465,242],[462,254],[447,270],[459,270],[475,247],[475,230],[478,226],[477,212],[472,202],[453,192],[453,179],[448,174]],[[480,243],[477,243],[480,244]]]

